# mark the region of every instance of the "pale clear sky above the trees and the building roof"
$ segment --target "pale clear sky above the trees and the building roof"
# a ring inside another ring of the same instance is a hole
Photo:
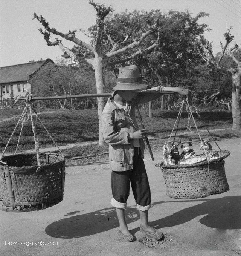
[[[241,0],[96,0],[96,3],[111,5],[116,13],[134,10],[151,11],[160,9],[185,12],[195,17],[199,12],[209,13],[198,23],[206,23],[210,32],[204,36],[212,42],[214,54],[221,51],[220,40],[225,44],[223,34],[230,28],[234,41],[241,47]],[[87,29],[95,24],[96,11],[89,0],[0,0],[0,67],[38,61],[50,58],[60,59],[63,52],[58,46],[47,46],[38,31],[41,24],[32,20],[34,14],[42,15],[50,28],[67,33],[69,30]],[[81,32],[76,36],[88,43]],[[57,36],[52,36],[52,41]],[[51,39],[51,38],[50,38]],[[60,39],[60,37],[59,37]],[[72,42],[63,40],[64,46],[72,48]]]

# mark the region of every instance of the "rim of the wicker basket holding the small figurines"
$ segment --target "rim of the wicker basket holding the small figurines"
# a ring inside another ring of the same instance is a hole
[[[221,153],[222,156],[220,158],[217,158],[217,159],[213,159],[211,161],[207,161],[207,159],[204,159],[203,161],[201,162],[197,162],[197,163],[194,163],[194,164],[175,164],[175,165],[164,165],[162,163],[158,163],[156,164],[155,166],[156,167],[159,167],[161,169],[178,169],[178,168],[188,168],[188,167],[195,167],[195,166],[202,166],[202,165],[205,165],[205,164],[211,164],[213,162],[219,162],[219,161],[222,161],[224,158],[228,157],[231,152],[229,150],[219,150],[217,151],[218,153]],[[197,155],[199,156],[199,155]]]

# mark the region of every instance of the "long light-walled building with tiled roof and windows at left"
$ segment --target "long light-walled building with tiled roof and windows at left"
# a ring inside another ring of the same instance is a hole
[[[24,97],[31,93],[31,78],[51,59],[18,64],[13,66],[0,67],[0,92],[1,102],[8,99],[11,93],[14,97]]]

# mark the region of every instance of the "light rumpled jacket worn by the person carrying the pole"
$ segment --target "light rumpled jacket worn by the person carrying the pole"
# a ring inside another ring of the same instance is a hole
[[[101,125],[104,140],[109,144],[110,169],[113,171],[127,171],[133,169],[134,146],[129,139],[129,133],[139,130],[135,105],[146,103],[159,97],[159,95],[137,95],[135,100],[128,102],[129,114],[114,104],[115,92],[108,98],[101,115]],[[140,139],[140,150],[144,159],[145,144]]]

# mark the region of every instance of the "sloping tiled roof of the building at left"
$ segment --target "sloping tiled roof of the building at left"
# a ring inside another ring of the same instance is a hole
[[[51,59],[18,64],[14,66],[0,67],[0,84],[14,83],[29,80],[32,75]]]

